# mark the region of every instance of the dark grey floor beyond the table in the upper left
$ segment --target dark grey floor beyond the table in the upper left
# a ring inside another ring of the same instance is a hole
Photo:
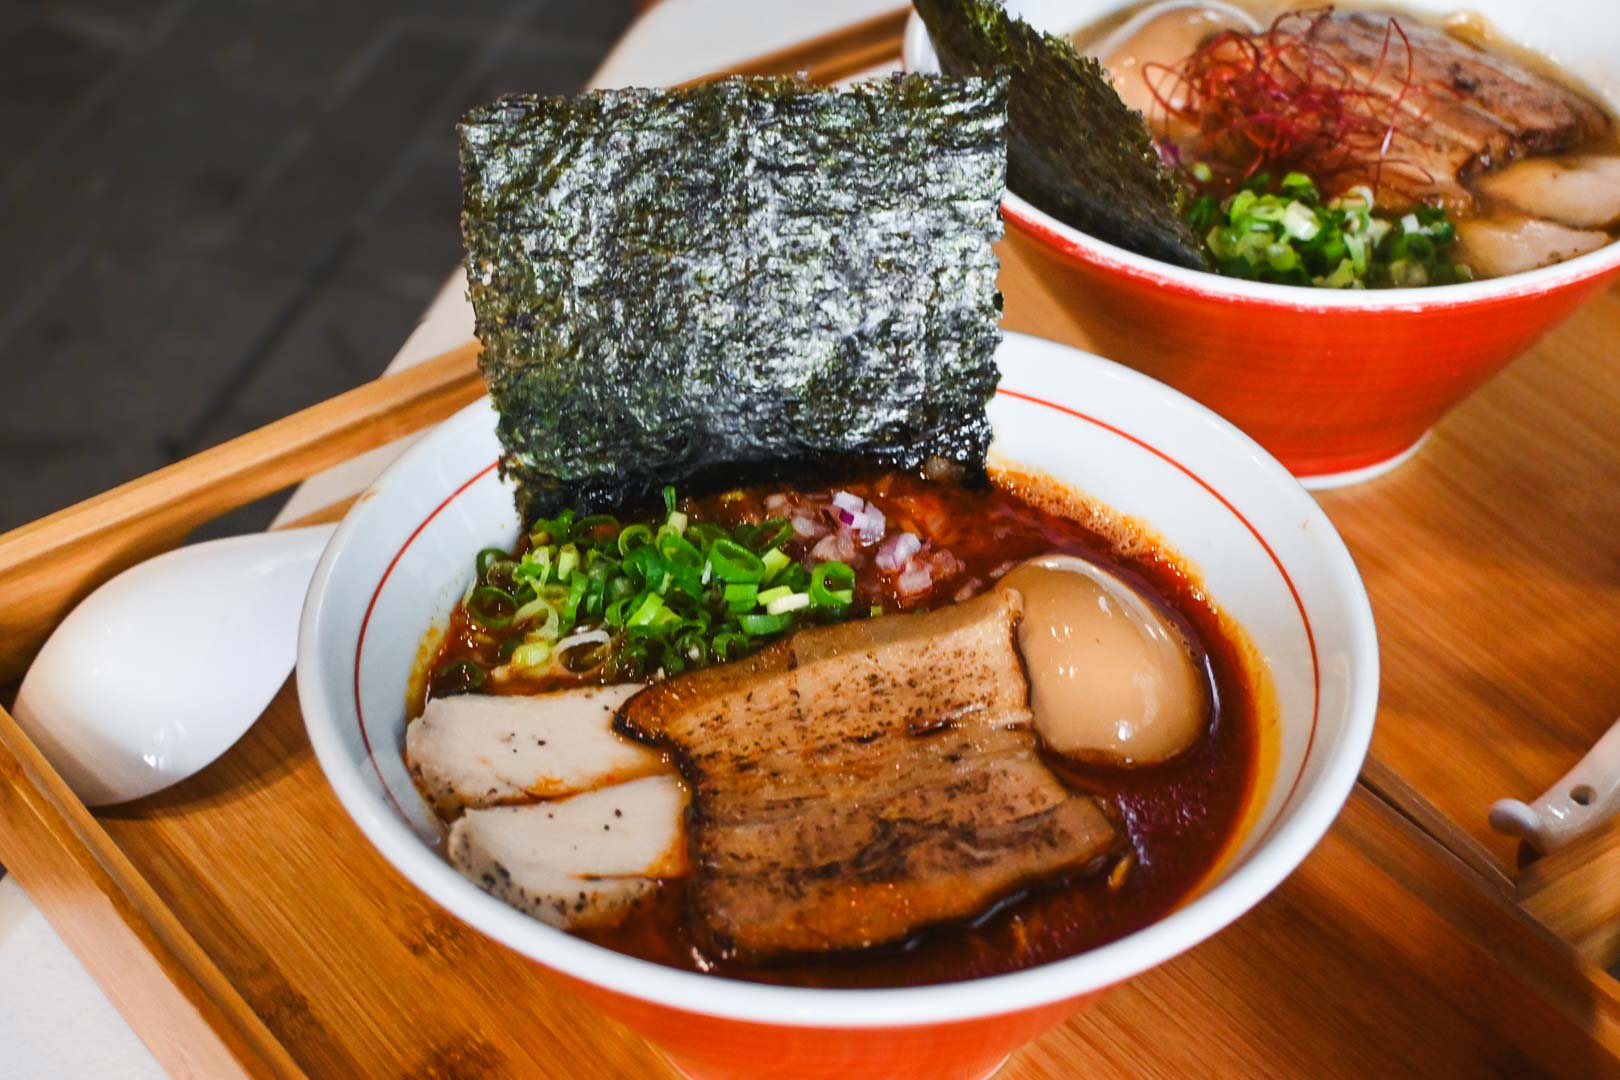
[[[0,0],[0,529],[379,374],[460,257],[455,118],[632,10]]]

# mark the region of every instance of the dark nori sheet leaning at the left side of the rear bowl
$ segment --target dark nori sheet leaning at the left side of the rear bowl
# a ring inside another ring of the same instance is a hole
[[[1014,19],[996,0],[915,0],[940,68],[1011,74],[1008,186],[1098,240],[1207,270],[1204,244],[1181,220],[1184,193],[1165,170],[1142,113],[1098,65]]]

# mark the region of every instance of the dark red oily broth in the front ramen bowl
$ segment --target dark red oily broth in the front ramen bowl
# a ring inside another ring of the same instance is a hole
[[[1186,902],[1238,839],[1260,772],[1260,693],[1251,680],[1241,635],[1196,580],[1150,544],[1121,547],[1085,525],[1040,507],[1064,508],[1050,487],[1019,474],[1001,474],[988,487],[964,487],[910,474],[865,473],[838,487],[781,484],[748,487],[685,500],[690,521],[726,526],[758,523],[794,500],[844,491],[880,507],[894,528],[920,536],[932,551],[949,552],[944,572],[917,594],[897,594],[891,575],[870,560],[857,567],[855,604],[885,612],[933,609],[990,588],[1011,567],[1048,552],[1103,562],[1163,609],[1194,644],[1209,680],[1210,714],[1202,737],[1162,764],[1087,764],[1042,750],[1042,759],[1077,792],[1098,797],[1126,836],[1129,853],[1113,873],[1038,881],[1001,899],[967,921],[922,929],[897,946],[797,954],[766,963],[706,955],[688,928],[684,879],[664,881],[653,899],[622,923],[577,931],[617,952],[674,968],[794,986],[917,986],[946,983],[1071,957],[1139,929]],[[766,505],[766,500],[771,505]],[[791,541],[789,554],[810,559],[810,541]],[[452,615],[429,670],[455,670],[460,662],[494,669],[502,636]],[[478,693],[544,693],[580,682],[608,682],[604,669],[554,672],[543,678],[488,680]],[[424,696],[462,691],[434,687]],[[413,701],[420,712],[424,696]]]

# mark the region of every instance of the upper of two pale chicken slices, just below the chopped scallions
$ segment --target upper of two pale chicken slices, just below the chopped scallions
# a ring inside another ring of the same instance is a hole
[[[663,758],[611,727],[640,688],[433,698],[405,729],[405,761],[444,816],[653,776],[666,771]]]

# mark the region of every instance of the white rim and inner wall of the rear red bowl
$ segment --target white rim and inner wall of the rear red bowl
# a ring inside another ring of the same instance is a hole
[[[1121,0],[1006,0],[1013,15],[1050,34],[1068,36],[1094,26],[1110,15],[1145,6]],[[1291,6],[1315,6],[1294,3]],[[1398,0],[1388,5],[1346,5],[1393,8],[1429,16],[1458,11],[1484,16],[1507,40],[1531,49],[1552,60],[1596,92],[1610,110],[1620,112],[1620,3],[1615,0],[1560,0],[1528,3],[1526,0]],[[928,29],[914,11],[906,23],[901,58],[907,71],[935,73],[940,60]],[[1272,301],[1291,308],[1333,311],[1341,308],[1403,311],[1439,304],[1471,304],[1511,296],[1537,295],[1571,282],[1607,274],[1620,267],[1620,243],[1612,243],[1576,259],[1555,266],[1511,274],[1508,277],[1437,285],[1430,288],[1332,290],[1268,285],[1220,277],[1200,270],[1174,267],[1105,243],[1064,225],[1045,210],[1008,193],[1006,210],[1051,230],[1087,251],[1094,259],[1119,270],[1157,277],[1189,291],[1223,300]]]

